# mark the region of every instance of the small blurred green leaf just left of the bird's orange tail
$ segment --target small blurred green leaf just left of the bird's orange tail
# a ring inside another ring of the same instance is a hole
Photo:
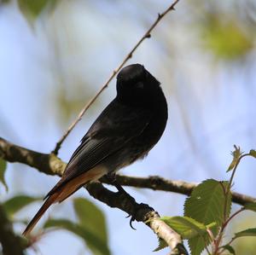
[[[28,206],[29,204],[43,200],[42,197],[31,197],[27,195],[17,195],[9,200],[6,200],[3,203],[3,208],[9,217],[13,217],[16,212],[19,212],[23,207]]]

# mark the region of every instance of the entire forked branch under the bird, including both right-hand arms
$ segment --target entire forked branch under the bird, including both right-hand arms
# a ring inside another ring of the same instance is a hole
[[[44,172],[48,175],[58,175],[61,177],[65,170],[66,163],[57,158],[55,154],[41,154],[27,148],[22,148],[11,142],[7,142],[0,137],[0,157],[9,162],[19,162],[30,165],[38,171]],[[108,183],[108,180],[102,178],[103,183]],[[179,194],[191,194],[193,188],[196,187],[194,183],[186,183],[183,181],[166,180],[161,177],[126,177],[117,176],[117,181],[121,185],[150,188],[154,190],[171,191]],[[111,183],[108,183],[111,184]],[[117,207],[120,210],[127,212],[138,222],[146,223],[154,230],[160,238],[164,239],[168,246],[172,248],[171,254],[186,255],[188,254],[183,247],[183,243],[179,235],[170,227],[159,219],[159,214],[154,212],[154,209],[144,204],[137,204],[137,202],[129,194],[114,193],[108,188],[104,188],[101,183],[93,183],[87,185],[87,190],[90,195],[97,200],[101,200],[108,206]],[[248,202],[255,202],[256,199],[244,194],[232,193],[232,201],[244,205]],[[1,215],[0,215],[1,217]],[[150,219],[150,221],[148,221]],[[14,254],[14,253],[13,253]]]

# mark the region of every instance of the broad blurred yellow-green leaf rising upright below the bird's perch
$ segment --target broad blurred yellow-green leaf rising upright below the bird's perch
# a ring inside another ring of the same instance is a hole
[[[79,218],[79,224],[83,226],[94,235],[98,236],[108,244],[108,233],[104,214],[102,211],[91,203],[89,200],[84,198],[77,198],[73,200],[73,207]]]

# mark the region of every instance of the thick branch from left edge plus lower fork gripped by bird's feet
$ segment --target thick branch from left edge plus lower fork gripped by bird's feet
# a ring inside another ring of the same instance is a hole
[[[61,176],[66,164],[54,154],[40,154],[38,152],[19,147],[0,137],[0,157],[9,162],[20,162],[50,175]],[[112,192],[100,183],[86,185],[90,195],[101,200],[108,206],[117,207],[131,215],[132,219],[146,223],[154,233],[166,241],[172,249],[173,255],[188,255],[183,246],[181,236],[173,231],[166,223],[160,221],[159,214],[145,204],[137,204],[129,194]],[[148,220],[150,220],[148,222]]]

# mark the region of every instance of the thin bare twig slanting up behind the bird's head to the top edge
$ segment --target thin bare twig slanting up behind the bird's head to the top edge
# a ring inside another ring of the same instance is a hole
[[[135,44],[135,46],[131,49],[131,51],[125,56],[125,59],[120,63],[119,67],[117,67],[116,69],[113,70],[112,74],[110,75],[110,77],[108,78],[108,80],[105,82],[105,84],[103,84],[102,88],[100,90],[98,90],[96,92],[96,95],[94,97],[92,97],[90,99],[90,101],[88,101],[88,103],[84,106],[84,108],[81,110],[81,112],[79,113],[79,116],[77,119],[75,119],[72,123],[72,125],[69,126],[69,128],[67,129],[67,131],[64,133],[64,135],[61,137],[60,141],[56,143],[55,145],[55,149],[52,151],[53,154],[57,155],[60,148],[61,148],[61,144],[62,142],[64,142],[64,140],[67,138],[67,136],[69,135],[69,133],[73,130],[73,128],[75,127],[75,125],[77,125],[77,123],[79,122],[80,119],[82,119],[84,113],[87,111],[87,109],[92,105],[92,103],[94,101],[96,101],[96,98],[98,96],[100,96],[100,94],[102,93],[103,90],[105,90],[108,87],[108,84],[111,82],[111,80],[114,78],[114,76],[116,75],[117,72],[120,71],[120,69],[122,67],[124,67],[125,63],[131,59],[133,53],[136,51],[136,49],[140,46],[141,43],[143,43],[143,41],[146,38],[150,38],[151,37],[151,32],[154,30],[154,27],[157,26],[157,24],[160,22],[160,20],[163,19],[163,17],[170,12],[171,10],[174,10],[175,5],[179,2],[179,0],[174,1],[163,13],[158,14],[157,19],[154,20],[154,23],[148,28],[148,31],[144,33],[143,37],[140,38],[140,40]]]

